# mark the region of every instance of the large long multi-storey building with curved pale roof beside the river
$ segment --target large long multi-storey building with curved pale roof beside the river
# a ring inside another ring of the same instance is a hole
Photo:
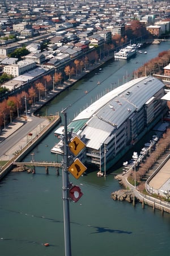
[[[150,130],[167,111],[164,84],[154,77],[126,82],[84,109],[68,125],[86,148],[80,159],[106,172]],[[56,130],[57,135],[62,129]],[[58,145],[61,149],[61,143]],[[51,150],[57,150],[57,145]]]

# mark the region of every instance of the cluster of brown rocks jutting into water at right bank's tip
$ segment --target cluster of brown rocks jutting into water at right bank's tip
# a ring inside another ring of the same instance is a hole
[[[112,192],[111,198],[118,201],[128,201],[132,203],[134,199],[134,192],[128,189],[121,189],[115,192]]]

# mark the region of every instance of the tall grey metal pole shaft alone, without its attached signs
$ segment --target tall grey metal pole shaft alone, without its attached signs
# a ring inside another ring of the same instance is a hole
[[[66,108],[67,109],[67,108]],[[65,256],[71,256],[71,238],[70,238],[70,209],[69,209],[69,172],[68,172],[68,137],[67,137],[67,113],[62,110],[65,117],[65,129],[63,134],[63,174],[62,174],[62,192],[63,192],[63,222],[65,235]]]

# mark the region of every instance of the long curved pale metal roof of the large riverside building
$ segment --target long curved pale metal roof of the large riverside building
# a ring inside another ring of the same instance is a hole
[[[117,127],[132,113],[141,109],[163,87],[163,82],[154,77],[141,77],[127,82],[84,109],[73,119],[71,126],[74,127],[75,122],[79,123],[78,134],[80,137],[85,135],[88,139],[87,147],[99,150],[101,143]],[[82,129],[83,120],[86,125]]]

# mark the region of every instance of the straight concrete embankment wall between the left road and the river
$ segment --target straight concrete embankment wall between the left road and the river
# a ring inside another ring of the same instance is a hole
[[[61,121],[61,117],[59,117],[59,115],[57,115],[56,117],[54,117],[54,119],[48,123],[48,125],[46,125],[44,127],[44,129],[42,129],[40,131],[39,134],[36,135],[35,138],[33,138],[31,141],[29,141],[28,144],[26,144],[26,146],[24,148],[22,148],[21,151],[18,152],[18,154],[16,154],[14,156],[14,158],[10,159],[2,168],[0,171],[0,180],[6,176],[8,174],[8,172],[10,172],[13,168],[13,162],[20,162],[22,161],[22,159],[29,153],[31,152],[31,150],[38,144],[40,143],[40,141],[42,141],[42,139],[44,139],[44,137]]]

